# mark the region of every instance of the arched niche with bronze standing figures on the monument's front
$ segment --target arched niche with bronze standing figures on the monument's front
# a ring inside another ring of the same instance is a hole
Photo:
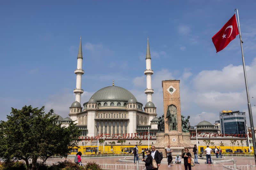
[[[177,108],[173,104],[168,106],[166,117],[168,118],[168,125],[170,131],[177,131]]]

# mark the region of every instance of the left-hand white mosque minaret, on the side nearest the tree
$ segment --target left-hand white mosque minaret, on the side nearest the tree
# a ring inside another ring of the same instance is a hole
[[[80,45],[77,54],[77,68],[75,70],[76,74],[76,89],[74,89],[74,93],[76,94],[76,101],[81,103],[81,94],[84,93],[84,90],[81,89],[82,84],[82,75],[84,74],[84,70],[82,70],[83,63],[83,53],[82,53],[82,41],[80,36]]]

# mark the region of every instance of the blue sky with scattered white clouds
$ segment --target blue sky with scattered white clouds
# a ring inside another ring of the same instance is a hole
[[[158,116],[164,114],[162,80],[177,79],[181,114],[190,115],[191,125],[214,123],[221,110],[240,110],[250,126],[239,36],[219,53],[212,43],[238,8],[255,124],[255,6],[230,0],[0,1],[0,120],[24,105],[68,117],[80,36],[81,103],[115,80],[145,105],[148,37]]]

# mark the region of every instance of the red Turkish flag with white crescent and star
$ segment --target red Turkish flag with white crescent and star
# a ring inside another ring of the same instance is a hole
[[[236,14],[212,37],[216,53],[223,50],[239,34],[236,24]]]

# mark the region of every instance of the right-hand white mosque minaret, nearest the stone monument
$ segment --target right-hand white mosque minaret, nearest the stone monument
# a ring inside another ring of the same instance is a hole
[[[144,74],[147,76],[147,89],[145,90],[145,93],[147,94],[147,102],[152,102],[152,94],[154,93],[154,90],[151,87],[151,75],[153,73],[153,70],[151,70],[151,56],[148,43],[146,52],[146,70],[144,71]]]

